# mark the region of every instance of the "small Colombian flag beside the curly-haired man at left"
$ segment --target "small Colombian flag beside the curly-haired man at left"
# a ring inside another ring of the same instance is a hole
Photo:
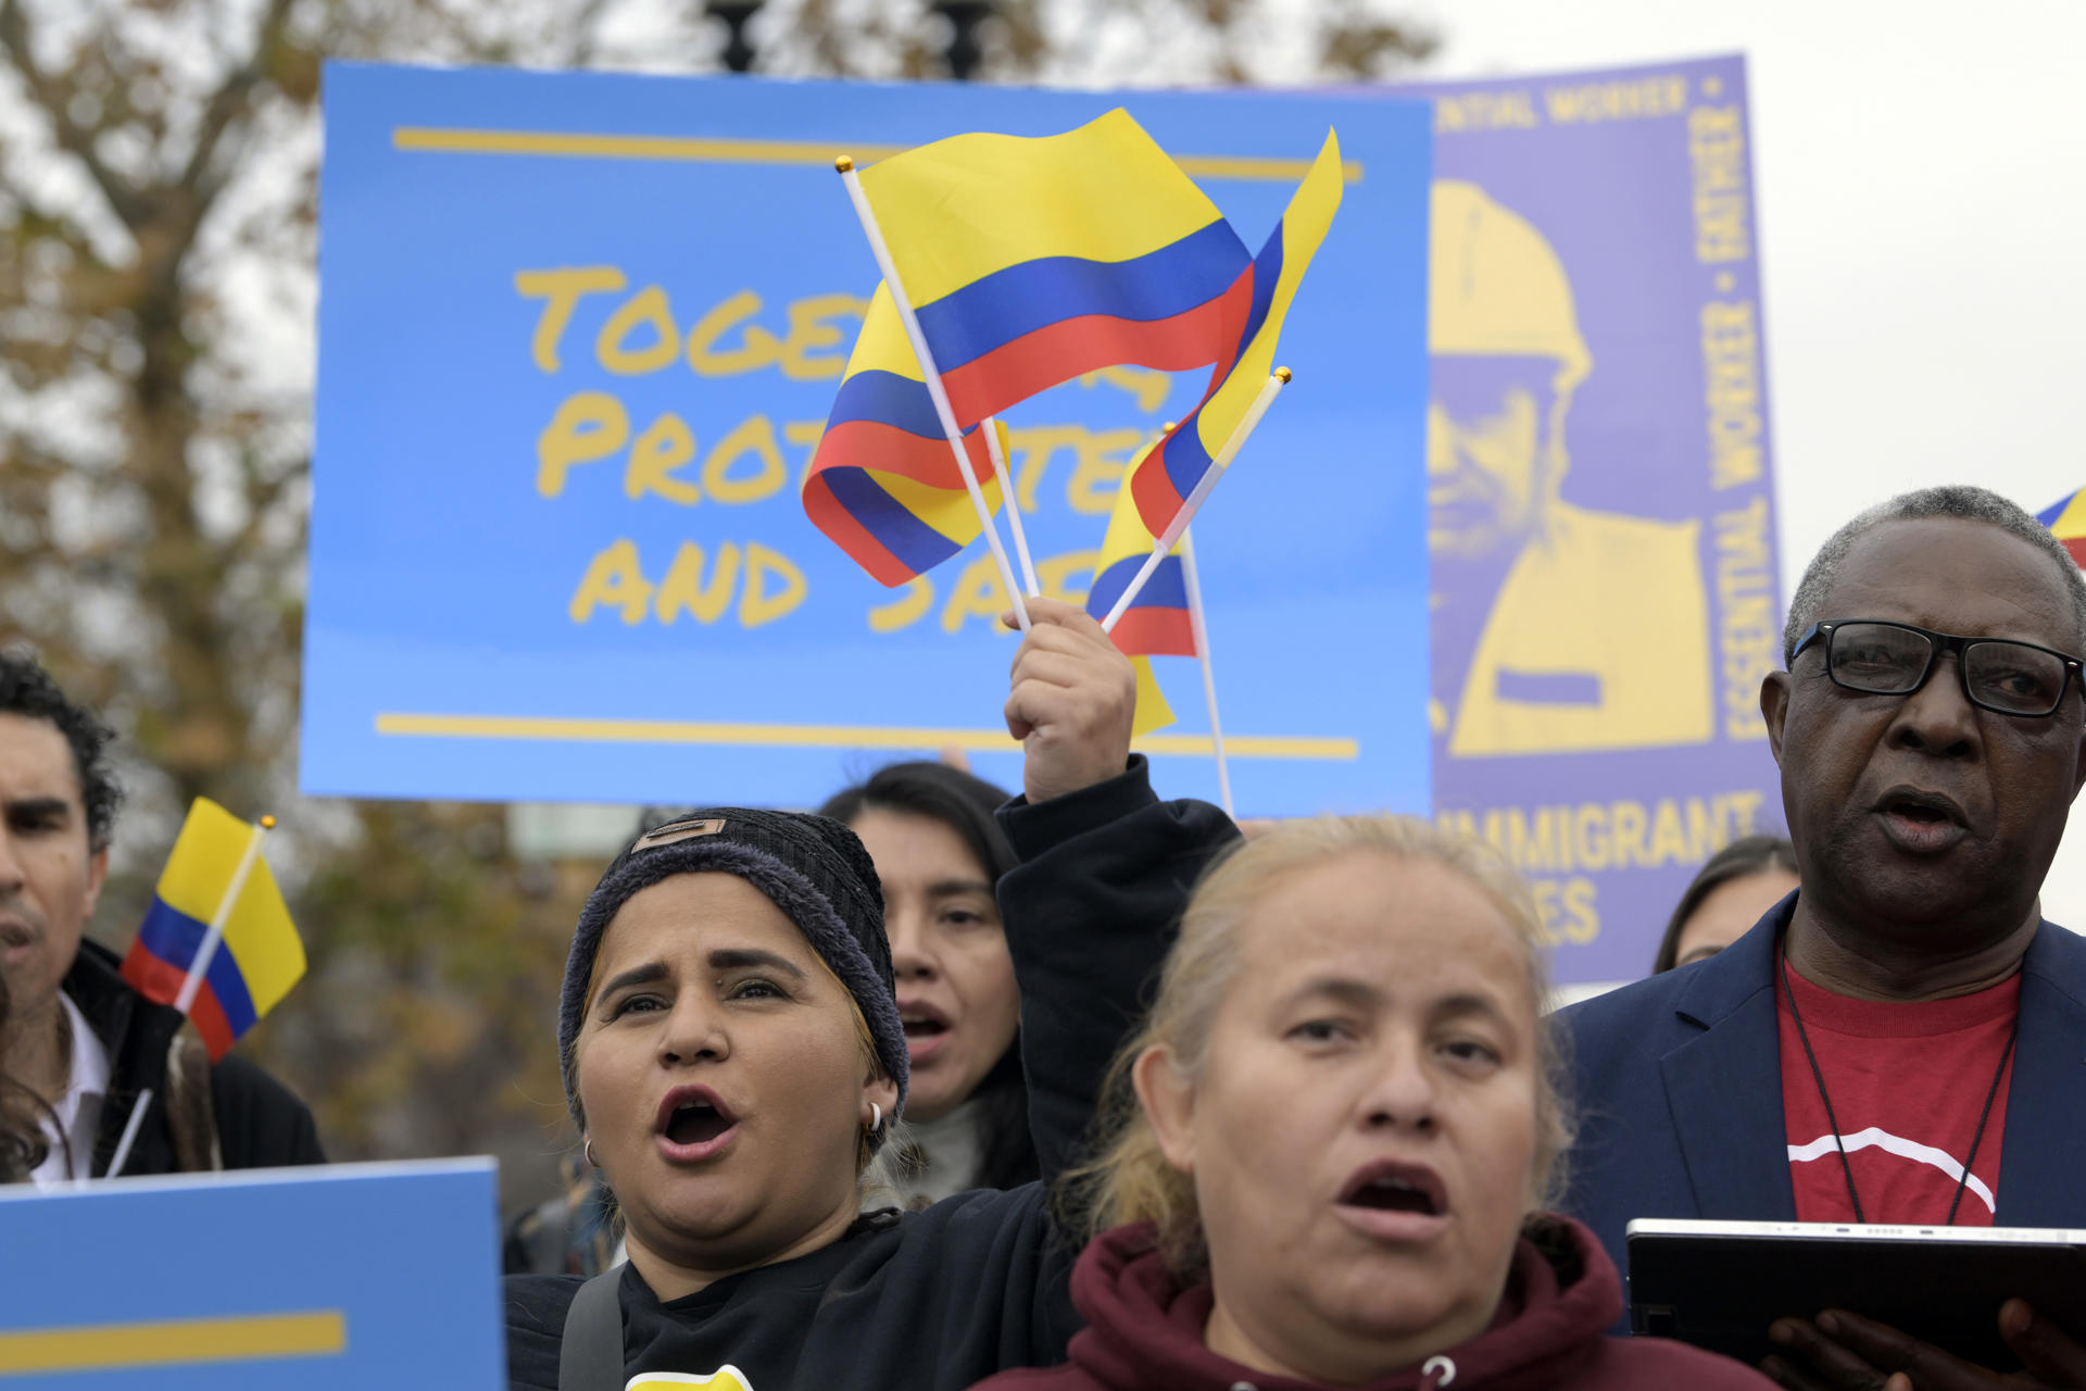
[[[159,876],[152,907],[123,959],[123,978],[150,1001],[171,1005],[181,995],[196,949],[225,895],[234,890],[246,847],[261,828],[215,801],[198,797]],[[225,911],[225,934],[202,972],[188,1020],[219,1061],[263,1014],[305,974],[305,943],[296,936],[267,861],[254,855],[246,882]]]

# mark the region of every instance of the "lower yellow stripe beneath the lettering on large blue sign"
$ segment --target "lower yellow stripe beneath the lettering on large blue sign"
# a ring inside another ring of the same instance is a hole
[[[772,749],[964,749],[1012,753],[1005,730],[903,730],[855,724],[715,724],[703,719],[544,719],[534,715],[378,715],[378,734],[434,738],[534,738],[592,745],[734,745]],[[1208,734],[1149,734],[1133,749],[1158,755],[1210,757]],[[1362,757],[1354,738],[1302,734],[1227,734],[1235,759],[1312,759],[1352,763]]]

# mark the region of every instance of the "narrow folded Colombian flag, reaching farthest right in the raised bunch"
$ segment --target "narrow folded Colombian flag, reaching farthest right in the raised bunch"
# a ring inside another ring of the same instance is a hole
[[[1339,194],[1339,136],[1327,131],[1325,146],[1289,200],[1283,221],[1254,259],[1250,300],[1241,313],[1227,315],[1224,357],[1210,373],[1208,394],[1131,475],[1129,488],[1137,498],[1137,511],[1154,536],[1166,534],[1187,494],[1195,490],[1275,371],[1283,317],[1295,300],[1312,254],[1333,225]],[[1231,304],[1227,300],[1227,307]]]

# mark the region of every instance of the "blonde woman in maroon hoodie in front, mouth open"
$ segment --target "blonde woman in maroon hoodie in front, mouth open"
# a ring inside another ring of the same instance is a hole
[[[1615,1266],[1544,1212],[1571,1141],[1544,995],[1535,907],[1479,843],[1327,817],[1224,859],[1068,1193],[1087,1328],[983,1387],[1769,1387],[1604,1337]]]

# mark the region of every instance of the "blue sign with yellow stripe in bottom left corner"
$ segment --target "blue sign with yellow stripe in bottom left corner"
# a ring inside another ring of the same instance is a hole
[[[0,1189],[0,1387],[503,1391],[492,1160]]]

